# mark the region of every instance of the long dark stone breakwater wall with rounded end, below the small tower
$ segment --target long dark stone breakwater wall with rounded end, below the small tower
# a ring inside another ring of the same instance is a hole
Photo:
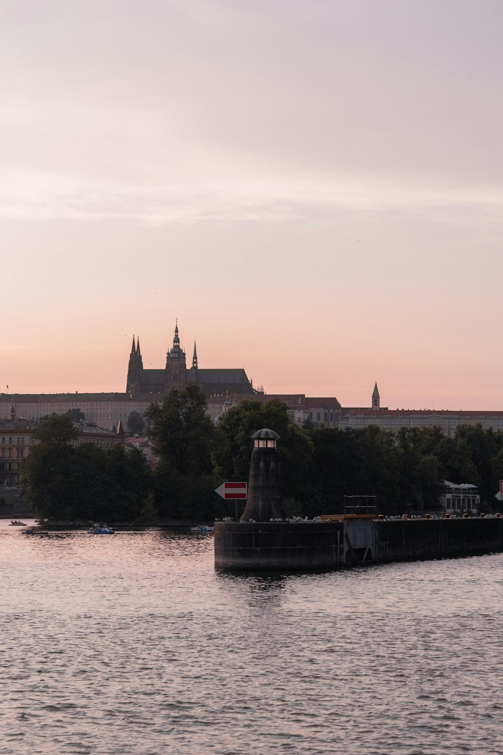
[[[503,518],[215,522],[215,567],[222,570],[338,569],[501,552]]]

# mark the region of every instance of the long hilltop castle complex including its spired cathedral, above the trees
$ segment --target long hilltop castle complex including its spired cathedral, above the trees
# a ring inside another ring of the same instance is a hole
[[[36,421],[50,414],[66,414],[80,409],[85,421],[105,430],[115,430],[132,411],[144,414],[154,402],[161,402],[172,388],[196,384],[204,392],[208,413],[216,420],[222,413],[243,399],[261,403],[278,398],[287,404],[290,420],[297,426],[307,422],[325,427],[354,430],[375,425],[397,433],[402,427],[437,426],[450,435],[462,424],[481,424],[484,429],[503,430],[503,411],[452,411],[434,409],[388,409],[381,407],[377,384],[370,408],[342,408],[335,396],[310,398],[304,393],[265,394],[262,387],[253,387],[244,368],[200,368],[194,344],[192,365],[187,367],[185,350],[180,346],[176,324],[173,346],[167,351],[164,367],[145,369],[140,351],[140,338],[133,337],[127,365],[124,393],[0,393],[0,420],[23,418]]]

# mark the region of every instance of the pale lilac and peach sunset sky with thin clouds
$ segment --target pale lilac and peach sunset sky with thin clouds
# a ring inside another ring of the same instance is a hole
[[[0,390],[503,409],[501,0],[0,0]]]

